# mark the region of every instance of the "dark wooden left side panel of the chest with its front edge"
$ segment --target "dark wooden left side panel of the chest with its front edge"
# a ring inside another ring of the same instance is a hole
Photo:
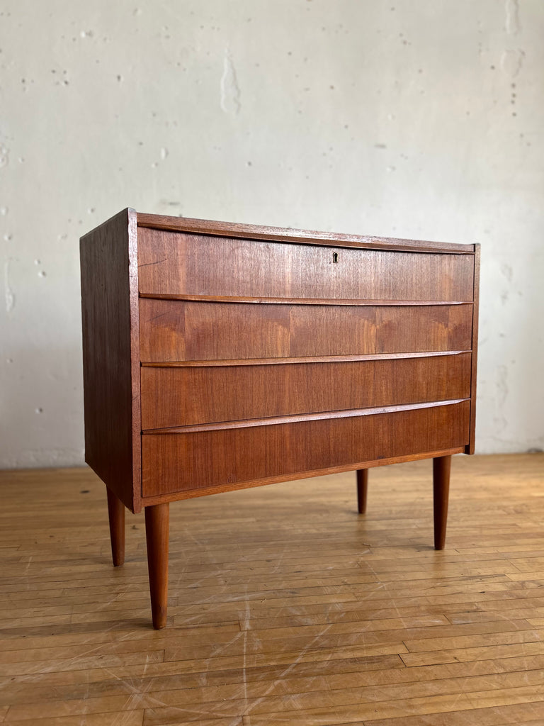
[[[140,508],[136,213],[81,238],[85,460],[133,512]]]

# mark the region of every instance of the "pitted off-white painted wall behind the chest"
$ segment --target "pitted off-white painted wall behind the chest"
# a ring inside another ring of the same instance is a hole
[[[542,0],[1,0],[0,465],[83,461],[78,237],[482,243],[479,452],[544,447]]]

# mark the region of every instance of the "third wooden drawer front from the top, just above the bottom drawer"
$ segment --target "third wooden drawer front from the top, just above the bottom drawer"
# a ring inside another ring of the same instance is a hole
[[[471,354],[371,361],[143,367],[144,429],[470,396]]]

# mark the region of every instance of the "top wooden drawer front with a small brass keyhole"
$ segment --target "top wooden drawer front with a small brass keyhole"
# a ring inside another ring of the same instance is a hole
[[[139,229],[140,293],[471,301],[474,256]],[[337,263],[333,253],[338,254]]]

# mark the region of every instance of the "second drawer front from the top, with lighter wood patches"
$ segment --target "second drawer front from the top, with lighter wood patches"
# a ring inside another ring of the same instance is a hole
[[[142,362],[470,350],[471,305],[140,300]]]

